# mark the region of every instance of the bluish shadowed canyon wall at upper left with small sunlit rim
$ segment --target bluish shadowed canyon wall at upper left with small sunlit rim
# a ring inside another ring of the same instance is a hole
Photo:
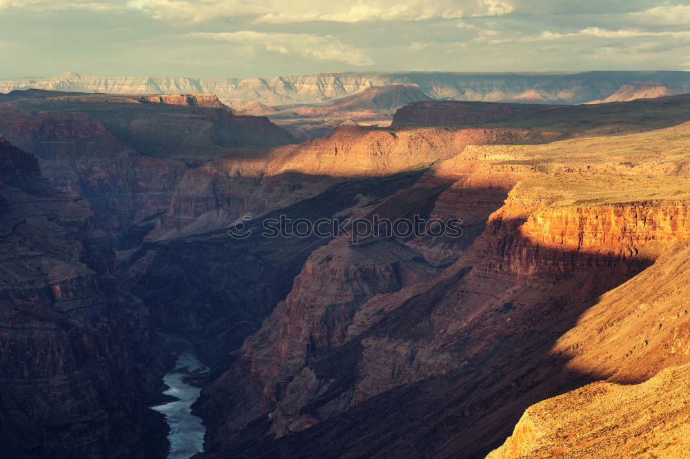
[[[190,97],[141,103],[104,94],[22,92],[0,97],[0,132],[33,152],[53,185],[90,201],[116,247],[128,249],[155,227],[190,167],[293,141],[265,118],[218,107],[214,96],[194,96],[188,105]]]

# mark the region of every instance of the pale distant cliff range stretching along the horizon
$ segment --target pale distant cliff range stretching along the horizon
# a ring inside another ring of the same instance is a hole
[[[432,99],[526,103],[602,101],[631,83],[655,83],[669,93],[690,92],[690,72],[342,72],[272,78],[91,76],[0,80],[0,92],[27,88],[112,94],[216,94],[235,108],[332,102],[372,86],[417,85]],[[634,94],[633,94],[634,95]]]

